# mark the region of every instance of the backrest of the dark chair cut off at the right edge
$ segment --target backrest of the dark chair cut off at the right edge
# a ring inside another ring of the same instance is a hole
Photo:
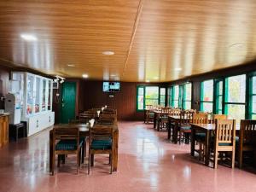
[[[241,120],[239,138],[246,144],[256,144],[256,120]]]

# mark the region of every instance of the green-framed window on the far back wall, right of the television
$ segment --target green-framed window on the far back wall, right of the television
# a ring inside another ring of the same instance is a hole
[[[160,88],[158,86],[137,86],[137,110],[143,110],[146,105],[158,105]]]

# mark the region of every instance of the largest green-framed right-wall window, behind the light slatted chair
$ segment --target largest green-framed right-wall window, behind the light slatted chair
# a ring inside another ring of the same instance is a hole
[[[224,111],[230,119],[245,119],[246,75],[225,79]]]

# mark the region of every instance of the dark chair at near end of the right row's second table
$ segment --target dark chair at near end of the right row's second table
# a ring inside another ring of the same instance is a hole
[[[190,134],[191,134],[191,119],[193,113],[183,111],[180,113],[180,120],[177,126],[179,131],[179,143],[181,143],[182,136],[185,139],[185,143],[189,143]]]

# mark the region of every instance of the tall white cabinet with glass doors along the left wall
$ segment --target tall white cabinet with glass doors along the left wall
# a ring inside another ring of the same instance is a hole
[[[21,120],[27,121],[27,135],[42,131],[55,122],[52,112],[52,79],[24,72],[12,72],[13,80],[20,80]]]

